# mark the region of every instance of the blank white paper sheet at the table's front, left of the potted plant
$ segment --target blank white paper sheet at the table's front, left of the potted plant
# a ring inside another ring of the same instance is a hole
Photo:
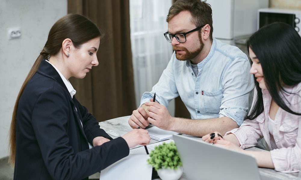
[[[151,180],[153,167],[147,163],[149,155],[146,153],[129,154],[127,157],[110,165],[100,173],[100,180]]]

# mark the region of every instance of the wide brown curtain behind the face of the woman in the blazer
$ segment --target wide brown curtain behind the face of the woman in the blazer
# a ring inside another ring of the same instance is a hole
[[[68,13],[82,14],[105,31],[93,67],[84,79],[70,78],[76,98],[98,121],[136,109],[129,0],[68,0]]]

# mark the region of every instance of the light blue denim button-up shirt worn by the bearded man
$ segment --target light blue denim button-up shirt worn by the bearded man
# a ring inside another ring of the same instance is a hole
[[[240,126],[253,100],[254,79],[250,61],[238,47],[213,38],[209,54],[197,64],[195,76],[191,62],[179,61],[175,52],[151,92],[144,92],[141,104],[156,101],[168,107],[180,96],[191,119],[227,116]]]

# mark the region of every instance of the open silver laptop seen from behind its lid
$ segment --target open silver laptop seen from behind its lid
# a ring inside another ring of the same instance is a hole
[[[184,135],[174,134],[173,140],[180,154],[185,176],[189,180],[275,179],[259,174],[259,168],[253,156]]]

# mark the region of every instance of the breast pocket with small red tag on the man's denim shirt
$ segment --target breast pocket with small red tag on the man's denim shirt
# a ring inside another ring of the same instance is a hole
[[[202,91],[204,107],[206,113],[218,114],[221,107],[223,98],[223,91],[219,90],[216,92]]]

